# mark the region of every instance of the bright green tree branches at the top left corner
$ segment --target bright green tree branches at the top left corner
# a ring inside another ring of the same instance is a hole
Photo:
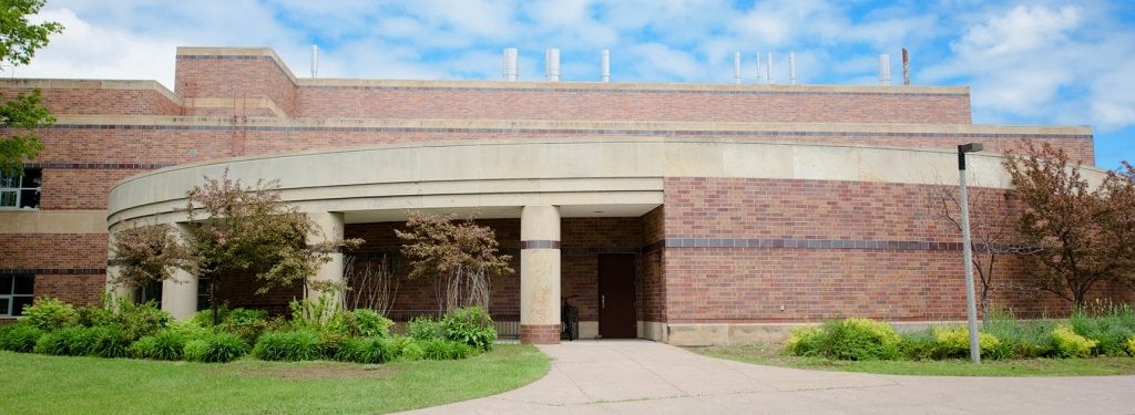
[[[48,44],[49,35],[62,32],[64,26],[56,22],[37,25],[27,22],[27,16],[39,12],[44,1],[5,0],[0,5],[0,61],[27,65],[35,51]],[[24,170],[24,159],[35,159],[43,151],[35,128],[50,126],[56,119],[40,103],[40,91],[12,99],[0,94],[0,127],[9,129],[0,138],[0,173],[18,176]]]

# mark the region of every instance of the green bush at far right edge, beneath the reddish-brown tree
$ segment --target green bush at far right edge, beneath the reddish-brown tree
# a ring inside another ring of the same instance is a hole
[[[1135,336],[1135,307],[1101,305],[1093,311],[1074,312],[1069,322],[1077,334],[1096,341],[1092,354],[1121,356],[1127,353],[1127,338]]]

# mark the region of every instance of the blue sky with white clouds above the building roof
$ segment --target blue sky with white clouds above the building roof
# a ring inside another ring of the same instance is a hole
[[[35,19],[64,33],[0,76],[155,79],[173,90],[177,46],[268,46],[292,71],[365,79],[501,79],[518,48],[521,81],[877,85],[878,56],[902,83],[968,86],[975,124],[1086,125],[1096,164],[1135,161],[1135,1],[785,0],[48,0]]]

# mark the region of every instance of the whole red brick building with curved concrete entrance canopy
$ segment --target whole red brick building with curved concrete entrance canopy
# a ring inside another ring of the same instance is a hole
[[[972,124],[965,87],[312,79],[269,49],[179,48],[174,92],[0,82],[30,88],[58,124],[0,189],[7,314],[31,296],[96,300],[110,235],[184,221],[186,190],[227,169],[280,180],[325,230],[367,239],[347,254],[362,261],[396,256],[409,210],[476,212],[519,253],[493,302],[524,341],[558,341],[561,299],[583,337],[673,344],[839,316],[960,320],[960,235],[932,197],[956,187],[956,146],[984,144],[969,171],[995,195],[1010,186],[999,153],[1020,139],[1094,160],[1087,127]],[[320,278],[343,266],[337,254]],[[999,272],[1022,287],[1028,270],[1004,259]],[[300,294],[253,288],[224,291],[255,306]],[[197,295],[160,294],[178,316]],[[1066,307],[997,296],[1023,315]],[[395,308],[432,304],[432,286],[404,281]]]

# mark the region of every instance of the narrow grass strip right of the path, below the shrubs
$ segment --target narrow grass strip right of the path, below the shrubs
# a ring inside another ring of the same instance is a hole
[[[1135,374],[1135,357],[1032,358],[1017,361],[834,361],[787,356],[775,345],[690,347],[690,350],[731,361],[823,371],[930,376],[1083,376]]]

